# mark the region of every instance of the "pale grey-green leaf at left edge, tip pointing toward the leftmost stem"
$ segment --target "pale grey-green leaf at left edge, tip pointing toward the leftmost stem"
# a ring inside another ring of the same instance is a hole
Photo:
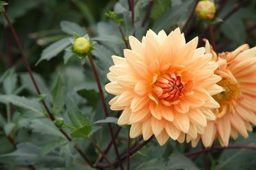
[[[0,95],[0,101],[10,102],[15,106],[29,110],[35,114],[36,117],[44,117],[42,105],[36,100],[14,95]]]

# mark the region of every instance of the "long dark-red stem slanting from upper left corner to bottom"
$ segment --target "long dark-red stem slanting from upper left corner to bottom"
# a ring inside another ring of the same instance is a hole
[[[40,95],[40,94],[41,94],[40,89],[39,89],[39,87],[38,87],[38,85],[37,85],[37,83],[36,83],[36,80],[35,80],[35,78],[34,78],[34,75],[33,75],[32,71],[31,71],[31,68],[30,68],[30,66],[29,66],[27,57],[26,57],[26,55],[25,55],[25,53],[24,53],[24,50],[23,50],[22,45],[21,45],[21,43],[20,43],[20,40],[19,40],[19,38],[18,38],[18,36],[17,36],[17,33],[16,33],[16,31],[15,31],[15,29],[14,29],[12,23],[10,22],[8,16],[6,15],[6,13],[5,13],[4,11],[2,11],[2,13],[3,13],[4,18],[5,18],[6,21],[8,22],[8,25],[10,26],[10,29],[11,29],[11,31],[12,31],[13,37],[14,37],[14,39],[15,39],[15,42],[16,42],[16,44],[17,44],[19,50],[20,50],[20,55],[21,55],[22,60],[23,60],[23,62],[24,62],[24,64],[25,64],[25,67],[26,67],[26,69],[27,69],[27,71],[28,71],[28,73],[29,73],[29,76],[30,76],[30,78],[31,78],[31,80],[32,80],[32,82],[33,82],[33,85],[34,85],[34,87],[35,87],[35,89],[36,89],[36,92],[37,92],[38,95]],[[42,100],[42,104],[44,105],[44,108],[45,108],[45,110],[47,111],[47,113],[48,113],[48,115],[49,115],[49,118],[50,118],[50,119],[52,120],[52,122],[53,122],[53,121],[55,120],[54,115],[53,115],[53,114],[51,113],[51,111],[49,110],[49,108],[48,108],[48,106],[46,105],[44,99]],[[72,141],[72,140],[70,139],[70,137],[67,135],[67,133],[64,132],[62,129],[60,129],[60,132],[63,134],[63,136],[65,136],[65,138],[66,138],[69,142]],[[83,152],[81,152],[80,148],[79,148],[78,146],[75,147],[75,148],[76,148],[76,150],[80,153],[80,155],[84,158],[84,160],[86,160],[86,162],[88,162],[88,164],[89,164],[91,167],[93,167],[93,164],[89,161],[89,159],[87,159],[87,157],[83,154]]]

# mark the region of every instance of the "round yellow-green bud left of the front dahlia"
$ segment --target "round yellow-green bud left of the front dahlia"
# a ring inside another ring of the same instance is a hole
[[[85,55],[88,52],[90,52],[91,48],[92,48],[92,45],[91,45],[90,41],[84,37],[79,37],[79,38],[75,39],[75,41],[73,43],[74,52],[81,54],[81,55]]]

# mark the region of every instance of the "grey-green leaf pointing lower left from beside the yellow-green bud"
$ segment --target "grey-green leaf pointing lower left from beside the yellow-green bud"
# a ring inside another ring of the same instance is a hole
[[[56,42],[52,43],[51,45],[47,46],[43,50],[40,59],[36,62],[36,66],[42,60],[50,60],[53,57],[56,57],[56,55],[58,55],[60,52],[65,50],[65,48],[67,48],[67,46],[70,45],[69,39],[70,39],[69,37],[63,38],[63,39],[60,39],[59,41],[56,41]]]

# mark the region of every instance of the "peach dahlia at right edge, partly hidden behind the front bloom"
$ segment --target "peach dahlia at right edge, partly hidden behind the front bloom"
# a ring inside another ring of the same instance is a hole
[[[248,138],[247,131],[252,131],[250,123],[256,125],[256,47],[249,48],[245,44],[234,52],[223,52],[218,56],[209,41],[206,41],[205,48],[219,65],[215,74],[222,77],[217,84],[223,92],[213,96],[220,108],[212,110],[216,120],[207,122],[201,139],[205,147],[211,146],[216,138],[222,146],[227,146],[230,136],[236,139],[239,133]],[[200,136],[192,140],[192,146],[199,139]]]

